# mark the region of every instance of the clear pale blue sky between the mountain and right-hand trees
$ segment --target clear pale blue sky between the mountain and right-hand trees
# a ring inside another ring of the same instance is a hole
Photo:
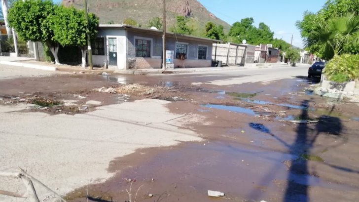
[[[61,0],[53,0],[60,2]],[[301,20],[304,11],[317,12],[326,0],[198,0],[218,18],[232,25],[242,18],[252,17],[257,27],[264,22],[278,39],[302,47],[302,39],[295,22]]]

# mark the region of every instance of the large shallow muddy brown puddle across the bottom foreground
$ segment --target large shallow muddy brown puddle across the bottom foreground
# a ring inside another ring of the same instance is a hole
[[[134,157],[136,156],[126,158]],[[300,185],[311,186],[311,189],[324,187],[355,190],[346,185],[328,183],[309,174],[288,173],[287,166],[283,162],[297,158],[297,155],[261,150],[258,147],[248,148],[230,141],[188,143],[180,149],[163,150],[154,158],[143,161],[141,166],[121,171],[121,175],[109,179],[100,189],[109,192],[110,196],[117,195],[114,199],[118,201],[117,199],[126,196],[125,192],[119,195],[119,190],[129,187],[123,179],[136,177],[139,182],[133,185],[136,189],[144,184],[151,193],[170,193],[166,194],[164,201],[187,202],[211,201],[204,197],[208,189],[225,192],[227,200],[231,202],[260,201],[258,198],[269,199],[273,195],[281,197],[284,195],[283,189],[287,187],[280,184],[287,181],[299,185],[291,189],[293,192],[300,192],[302,189]],[[125,162],[122,160],[119,165],[123,166]],[[113,163],[114,166],[115,164]],[[293,166],[301,169],[305,164],[299,161]],[[147,196],[148,193],[146,195],[143,193],[145,191],[140,190],[139,201],[154,201],[144,198],[143,196]]]

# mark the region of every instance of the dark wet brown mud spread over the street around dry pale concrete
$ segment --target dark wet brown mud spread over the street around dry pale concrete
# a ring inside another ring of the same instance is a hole
[[[117,158],[108,166],[109,172],[116,173],[113,178],[69,193],[68,201],[128,201],[126,189],[131,183],[131,201],[138,191],[139,202],[357,201],[359,126],[355,117],[359,109],[355,103],[328,102],[306,93],[310,82],[298,78],[231,86],[198,86],[190,84],[193,78],[163,78],[75,75],[0,81],[0,102],[38,94],[61,102],[75,100],[81,108],[88,100],[108,105],[149,96],[180,101],[168,104],[172,113],[204,117],[181,127],[197,132],[205,141],[138,150]],[[145,87],[119,93],[93,91],[124,83]],[[164,90],[144,93],[157,87]],[[24,93],[19,96],[19,92]],[[261,93],[252,96],[252,102],[234,99],[226,92]],[[316,110],[307,110],[310,108]],[[96,106],[87,110],[91,109],[96,110]],[[287,122],[298,118],[319,122]],[[207,190],[224,192],[225,196],[210,198]]]

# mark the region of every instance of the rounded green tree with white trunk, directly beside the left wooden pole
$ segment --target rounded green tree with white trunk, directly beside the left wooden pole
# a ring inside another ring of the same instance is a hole
[[[82,52],[82,67],[86,66],[87,34],[90,39],[96,38],[99,18],[89,13],[89,32],[87,33],[87,22],[85,12],[74,7],[59,6],[55,14],[49,17],[52,22],[51,28],[54,32],[53,40],[62,46],[77,46]]]

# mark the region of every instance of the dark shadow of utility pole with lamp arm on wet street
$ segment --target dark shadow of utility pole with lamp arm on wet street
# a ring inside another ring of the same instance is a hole
[[[309,100],[303,100],[301,106],[309,106]],[[309,123],[298,124],[296,128],[296,137],[292,144],[287,143],[280,137],[273,134],[267,127],[261,123],[249,123],[249,126],[255,130],[270,134],[278,142],[288,149],[288,153],[292,155],[289,162],[291,165],[288,170],[287,175],[287,186],[285,189],[285,194],[283,202],[309,202],[308,189],[310,186],[309,177],[310,173],[308,170],[308,161],[323,161],[319,156],[314,156],[311,154],[311,151],[315,145],[317,138],[320,135],[331,135],[339,138],[343,138],[343,141],[347,141],[345,137],[341,135],[342,131],[342,122],[339,118],[331,117],[330,114],[334,111],[333,107],[327,116],[321,116],[319,122],[316,123],[315,129],[309,127]],[[308,108],[301,109],[302,120],[310,120],[308,116]],[[335,148],[339,145],[342,145],[343,142],[338,143],[337,145],[331,145],[330,147],[325,148]],[[325,164],[325,162],[323,162]],[[328,165],[340,170],[356,173],[358,171],[352,170],[345,167]],[[272,168],[272,171],[262,179],[263,182],[268,182],[273,174],[277,172],[276,167]],[[257,196],[250,194],[250,197]]]

